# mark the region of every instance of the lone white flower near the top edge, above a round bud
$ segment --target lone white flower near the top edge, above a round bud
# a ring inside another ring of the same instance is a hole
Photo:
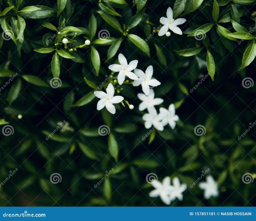
[[[161,17],[160,23],[163,24],[163,26],[160,28],[158,35],[163,36],[167,33],[168,29],[173,31],[174,33],[178,35],[182,35],[182,31],[177,25],[185,23],[186,19],[173,19],[173,10],[171,7],[167,9],[166,12],[167,17]]]

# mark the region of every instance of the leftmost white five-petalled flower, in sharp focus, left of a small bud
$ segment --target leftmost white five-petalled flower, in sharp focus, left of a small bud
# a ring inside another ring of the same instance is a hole
[[[101,99],[97,103],[97,110],[101,110],[103,107],[106,106],[107,110],[114,114],[116,113],[116,108],[113,104],[120,103],[124,98],[122,96],[114,96],[114,86],[113,84],[109,84],[107,89],[107,93],[103,91],[95,91],[94,95],[97,96],[97,98]]]

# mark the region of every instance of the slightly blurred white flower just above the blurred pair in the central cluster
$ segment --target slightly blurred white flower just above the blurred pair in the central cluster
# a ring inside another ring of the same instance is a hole
[[[148,96],[142,93],[138,94],[138,98],[142,101],[139,105],[139,110],[143,111],[146,108],[154,107],[155,105],[163,103],[163,99],[154,97],[155,93],[153,89],[150,89]]]

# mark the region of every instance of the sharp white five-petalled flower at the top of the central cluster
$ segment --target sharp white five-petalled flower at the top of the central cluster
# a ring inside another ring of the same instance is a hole
[[[109,69],[114,72],[119,72],[117,80],[120,85],[124,83],[125,76],[132,80],[138,80],[136,74],[131,72],[137,67],[138,60],[133,60],[128,64],[124,55],[119,54],[118,61],[120,64],[112,64],[109,66]]]

